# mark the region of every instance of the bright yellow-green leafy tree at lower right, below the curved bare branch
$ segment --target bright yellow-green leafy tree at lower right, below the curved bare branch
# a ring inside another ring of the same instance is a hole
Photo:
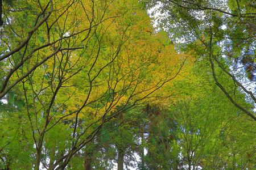
[[[197,61],[192,72],[192,82],[196,82],[180,84],[186,89],[180,95],[187,97],[170,107],[178,127],[175,148],[182,153],[179,159],[187,169],[249,168],[249,158],[244,153],[245,150],[253,152],[255,145],[250,140],[254,134],[247,131],[246,126],[254,127],[254,122],[248,121],[240,109],[233,107],[211,78],[208,65],[209,61]],[[233,80],[226,79],[220,68],[216,68],[216,75],[226,86],[233,85]],[[244,94],[238,90],[234,93],[237,102],[246,108],[252,107],[243,101]],[[248,150],[247,146],[251,148]]]

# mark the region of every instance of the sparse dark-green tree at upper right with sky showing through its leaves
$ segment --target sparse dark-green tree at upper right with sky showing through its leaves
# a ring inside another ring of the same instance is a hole
[[[179,50],[195,52],[199,59],[210,61],[215,82],[233,105],[256,120],[254,112],[237,103],[232,94],[237,88],[255,103],[255,3],[253,1],[150,1],[159,3],[165,17],[159,19]],[[179,43],[180,42],[180,43]],[[228,63],[228,65],[225,65]],[[216,76],[221,68],[234,86],[227,87]],[[233,69],[228,66],[233,66]],[[250,86],[246,85],[246,82]]]

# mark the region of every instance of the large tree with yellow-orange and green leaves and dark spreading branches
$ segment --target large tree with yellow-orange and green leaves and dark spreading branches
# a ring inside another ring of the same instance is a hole
[[[163,95],[189,61],[152,33],[137,1],[22,1],[2,12],[2,169],[67,168],[104,124]]]

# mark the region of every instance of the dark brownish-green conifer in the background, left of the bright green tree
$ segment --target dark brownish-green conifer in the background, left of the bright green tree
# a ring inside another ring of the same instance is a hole
[[[182,162],[174,152],[177,140],[177,122],[174,114],[168,112],[164,105],[147,105],[146,142],[147,154],[142,169],[180,169]]]

